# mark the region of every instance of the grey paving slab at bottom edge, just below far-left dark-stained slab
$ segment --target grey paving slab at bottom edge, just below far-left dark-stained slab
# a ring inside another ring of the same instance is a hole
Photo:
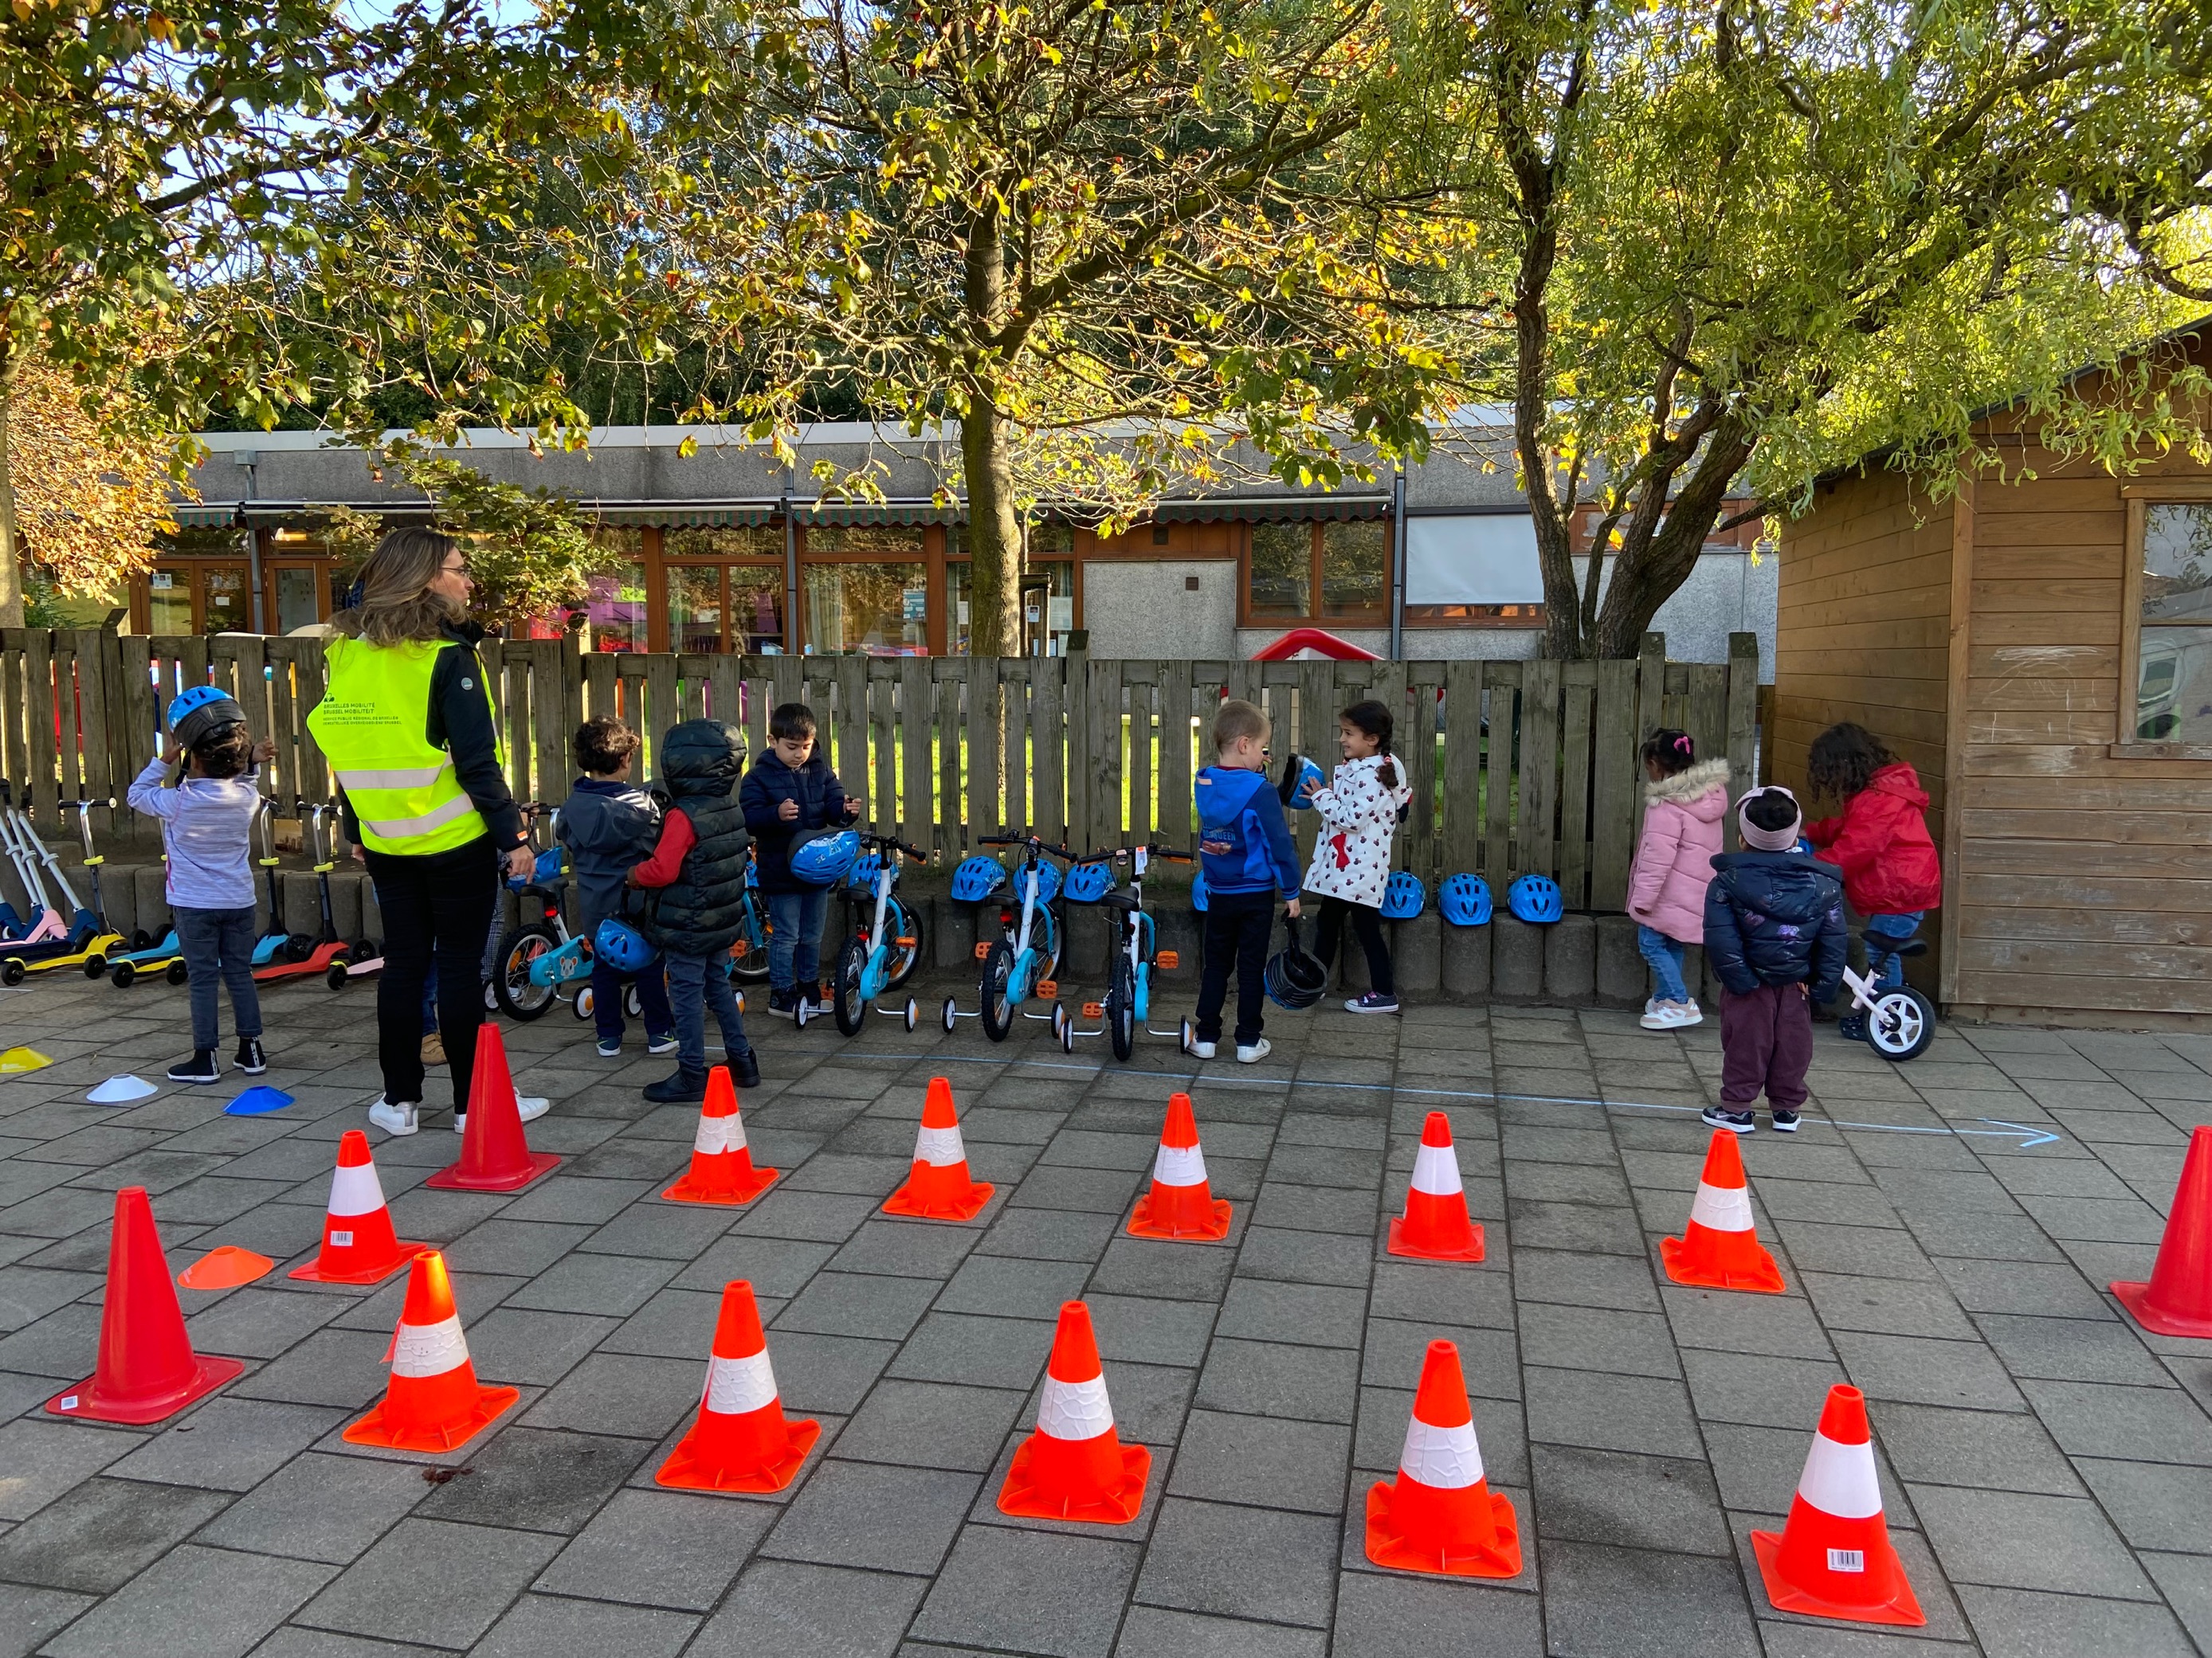
[[[46,1643],[53,1658],[241,1658],[334,1576],[310,1561],[179,1547]]]

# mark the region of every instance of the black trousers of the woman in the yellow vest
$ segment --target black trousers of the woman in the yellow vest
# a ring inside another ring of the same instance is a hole
[[[476,1028],[484,1021],[478,968],[500,895],[491,836],[407,858],[365,849],[376,909],[385,917],[385,973],[376,984],[376,1057],[385,1099],[422,1101],[422,982],[438,964],[438,1035],[453,1074],[453,1110],[469,1110]]]

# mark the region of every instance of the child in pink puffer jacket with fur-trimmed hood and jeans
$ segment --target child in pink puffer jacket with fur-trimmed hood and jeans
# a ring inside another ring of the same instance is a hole
[[[1705,886],[1728,814],[1728,760],[1699,760],[1688,732],[1644,743],[1644,833],[1628,867],[1628,913],[1652,968],[1646,1030],[1681,1030],[1705,1015],[1681,982],[1683,951],[1705,937]]]

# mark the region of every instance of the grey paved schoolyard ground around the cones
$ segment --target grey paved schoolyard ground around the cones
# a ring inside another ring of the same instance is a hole
[[[931,997],[925,995],[925,1006]],[[2154,1654],[2212,1651],[2212,1344],[2143,1340],[2141,1278],[2212,1116],[2212,1037],[1944,1030],[1902,1070],[1820,1030],[1805,1132],[1743,1150],[1785,1298],[1657,1273],[1719,1072],[1712,1024],[1418,1008],[1276,1015],[1276,1054],[1192,1088],[1228,1245],[1121,1236],[1188,1066],[1115,1066],[1031,1026],[856,1041],[754,1021],[748,1209],[657,1200],[692,1108],[564,1010],[509,1028],[560,1169],[515,1196],[420,1189],[458,1141],[378,1141],[400,1236],[449,1245],[482,1377],[522,1404],[453,1457],[361,1452],[400,1282],[272,1273],[184,1293],[246,1375],[150,1430],[58,1421],[86,1375],[108,1216],[146,1185],[170,1269],[217,1242],[312,1251],[334,1145],[376,1092],[372,997],[265,997],[283,1114],[159,1079],[184,993],[38,982],[0,1046],[0,1654]],[[1179,1010],[1179,1004],[1177,1004]],[[931,1074],[953,1081],[969,1227],[878,1220]],[[434,1094],[436,1096],[436,1094]],[[1604,1105],[1595,1101],[1608,1101]],[[1383,1256],[1422,1114],[1451,1114],[1482,1267]],[[794,1410],[823,1421],[774,1499],[664,1492],[717,1291],[750,1278]],[[1057,1304],[1088,1298],[1124,1437],[1155,1448],[1128,1528],[993,1508]],[[1528,1565],[1504,1585],[1371,1570],[1425,1342],[1460,1342]],[[1820,1399],[1874,1399],[1891,1534],[1929,1614],[1878,1634],[1774,1616],[1745,1532],[1776,1525]],[[458,1468],[458,1472],[453,1472]],[[2197,1647],[2190,1640],[2197,1640]]]

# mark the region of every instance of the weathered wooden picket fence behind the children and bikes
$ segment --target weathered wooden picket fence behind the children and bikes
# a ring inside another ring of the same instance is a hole
[[[580,654],[571,639],[487,641],[518,800],[560,802],[568,734],[615,714],[655,736],[681,718],[741,725],[752,754],[776,703],[812,705],[821,741],[867,822],[938,862],[982,836],[1037,833],[1095,849],[1155,838],[1188,847],[1192,769],[1221,696],[1261,703],[1274,754],[1336,763],[1336,714],[1363,696],[1398,712],[1413,807],[1398,862],[1436,880],[1480,871],[1502,886],[1553,875],[1568,909],[1619,909],[1641,809],[1637,745],[1657,725],[1725,754],[1752,783],[1759,646],[1730,637],[1728,663],[1668,663],[1659,634],[1630,661],[1091,661],[1073,657],[688,657]],[[215,683],[276,738],[263,789],[283,811],[325,800],[330,772],[307,738],[323,694],[323,641],[261,634],[117,637],[0,630],[0,765],[49,836],[62,802],[95,807],[100,838],[148,833],[122,796],[155,754],[161,710]],[[1294,814],[1301,853],[1314,814]]]

